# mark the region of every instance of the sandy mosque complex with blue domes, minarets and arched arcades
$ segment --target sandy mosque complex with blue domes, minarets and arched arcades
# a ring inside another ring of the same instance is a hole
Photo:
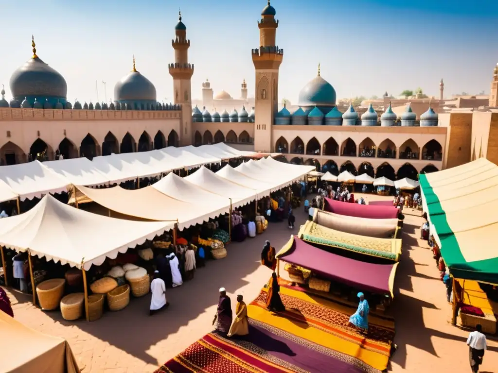
[[[240,99],[224,91],[214,95],[203,85],[203,103],[194,105],[188,59],[190,40],[181,14],[174,27],[173,103],[157,101],[156,89],[136,67],[116,83],[114,100],[71,103],[67,84],[37,55],[10,79],[12,99],[0,99],[0,163],[52,160],[160,149],[166,146],[226,142],[243,150],[278,152],[282,160],[316,165],[322,171],[388,178],[458,166],[479,157],[498,162],[498,67],[493,72],[488,106],[437,113],[429,104],[416,115],[409,102],[401,113],[387,104],[380,113],[372,103],[360,113],[338,106],[334,87],[317,75],[299,93],[295,110],[279,108],[279,67],[284,51],[276,43],[279,21],[268,3],[257,22],[258,47],[252,49],[255,91],[247,84]],[[441,93],[442,94],[442,93]],[[224,101],[225,100],[225,101]],[[235,108],[228,109],[223,102]],[[215,109],[216,108],[216,109]],[[219,110],[219,111],[217,111]],[[341,110],[343,112],[341,112]],[[497,137],[495,136],[497,135]]]

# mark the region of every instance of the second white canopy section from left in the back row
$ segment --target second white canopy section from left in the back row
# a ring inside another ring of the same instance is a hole
[[[88,158],[72,158],[43,162],[43,166],[65,177],[71,184],[89,187],[109,184],[109,178],[100,172]]]

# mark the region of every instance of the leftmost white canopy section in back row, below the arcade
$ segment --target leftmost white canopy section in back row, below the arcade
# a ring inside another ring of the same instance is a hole
[[[21,200],[41,198],[48,193],[67,191],[71,184],[66,178],[33,161],[19,165],[1,166],[0,180],[10,187]]]

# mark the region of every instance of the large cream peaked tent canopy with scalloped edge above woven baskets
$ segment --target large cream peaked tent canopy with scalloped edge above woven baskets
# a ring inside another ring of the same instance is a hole
[[[28,212],[0,219],[0,245],[89,270],[173,226],[97,215],[46,195]]]

